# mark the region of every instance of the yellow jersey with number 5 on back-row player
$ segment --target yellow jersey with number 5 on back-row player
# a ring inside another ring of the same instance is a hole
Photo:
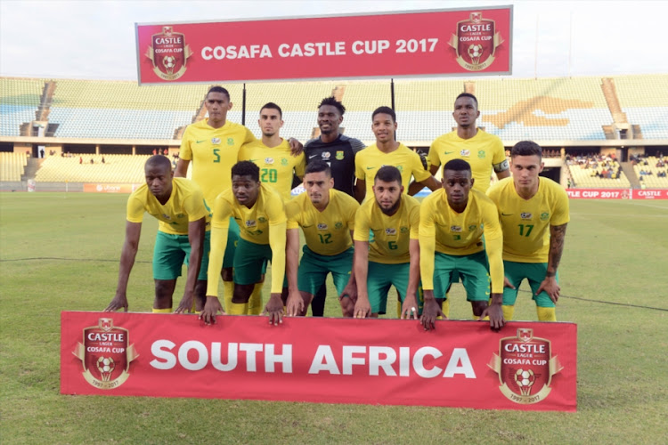
[[[179,158],[192,161],[192,181],[201,187],[209,204],[232,187],[232,166],[239,160],[239,150],[254,141],[248,128],[229,120],[214,128],[205,118],[185,129]]]

